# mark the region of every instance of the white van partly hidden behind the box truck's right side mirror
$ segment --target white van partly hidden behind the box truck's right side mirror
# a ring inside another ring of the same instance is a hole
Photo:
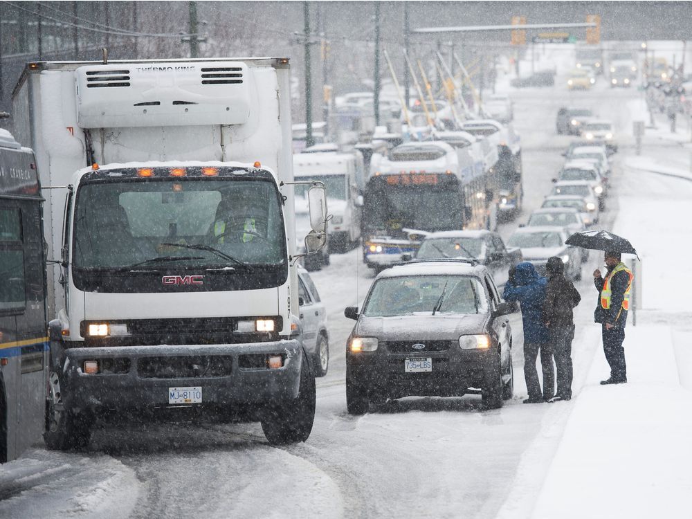
[[[363,156],[360,152],[316,152],[293,155],[296,181],[320,181],[327,188],[329,251],[343,253],[361,238]],[[296,185],[296,206],[309,185]]]

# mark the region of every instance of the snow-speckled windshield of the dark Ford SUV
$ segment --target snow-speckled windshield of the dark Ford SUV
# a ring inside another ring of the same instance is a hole
[[[444,293],[443,293],[444,292]],[[412,313],[487,313],[488,298],[475,277],[419,275],[385,277],[375,282],[363,315],[392,317]]]

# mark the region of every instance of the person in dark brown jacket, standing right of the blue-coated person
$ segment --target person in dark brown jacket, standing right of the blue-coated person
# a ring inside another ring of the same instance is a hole
[[[549,258],[545,269],[548,284],[543,302],[543,318],[550,334],[550,349],[555,358],[558,379],[558,389],[550,401],[556,402],[572,398],[572,309],[581,301],[581,295],[565,277],[565,264],[559,257]]]

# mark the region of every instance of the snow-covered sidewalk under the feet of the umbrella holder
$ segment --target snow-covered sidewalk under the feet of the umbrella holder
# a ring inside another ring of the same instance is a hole
[[[651,518],[687,509],[692,392],[680,385],[671,329],[628,327],[624,345],[629,382],[601,386],[609,370],[597,352],[532,518]]]

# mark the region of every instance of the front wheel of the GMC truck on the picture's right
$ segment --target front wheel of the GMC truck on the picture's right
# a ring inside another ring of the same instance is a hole
[[[270,406],[262,421],[264,436],[272,445],[295,444],[310,436],[315,421],[315,377],[303,357],[298,397]]]

